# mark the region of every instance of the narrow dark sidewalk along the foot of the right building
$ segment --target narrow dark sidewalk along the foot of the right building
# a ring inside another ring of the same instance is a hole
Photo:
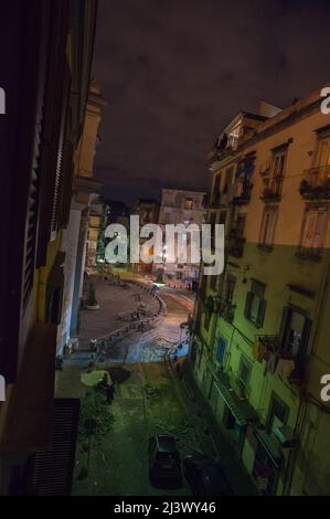
[[[210,403],[201,393],[189,364],[185,364],[185,368],[183,369],[182,379],[179,379],[171,368],[169,368],[169,370],[172,372],[172,378],[182,399],[185,404],[190,406],[191,416],[195,422],[195,427],[201,428],[201,424],[206,424],[206,433],[209,433],[209,436],[207,434],[204,435],[204,442],[202,445],[204,452],[210,452],[210,443],[212,443],[235,495],[257,496],[258,492],[256,487],[241,459],[238,459],[234,448],[224,437],[210,407]]]

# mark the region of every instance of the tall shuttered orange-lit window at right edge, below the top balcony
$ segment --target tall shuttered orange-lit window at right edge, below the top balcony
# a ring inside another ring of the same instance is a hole
[[[307,209],[302,224],[301,247],[320,252],[326,234],[328,208]]]

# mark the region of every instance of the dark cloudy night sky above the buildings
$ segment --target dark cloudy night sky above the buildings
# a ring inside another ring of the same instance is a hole
[[[99,0],[104,194],[210,189],[215,135],[259,99],[285,107],[323,86],[329,41],[329,0]]]

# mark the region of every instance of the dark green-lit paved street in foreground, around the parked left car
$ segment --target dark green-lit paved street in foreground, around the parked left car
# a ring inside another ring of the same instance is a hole
[[[88,476],[84,479],[79,479],[79,474],[82,467],[88,466],[88,456],[78,444],[73,495],[189,496],[184,480],[180,489],[155,488],[149,481],[150,435],[174,434],[182,457],[201,452],[201,438],[178,396],[167,364],[126,364],[125,370],[129,378],[117,385],[110,406],[111,431],[99,445],[92,444]]]

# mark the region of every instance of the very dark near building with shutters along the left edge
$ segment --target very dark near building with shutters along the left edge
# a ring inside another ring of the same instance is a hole
[[[1,495],[38,492],[35,456],[53,442],[61,244],[88,95],[96,9],[92,0],[13,0],[1,7],[7,49],[1,66],[9,93],[0,136],[6,244],[0,256]]]

